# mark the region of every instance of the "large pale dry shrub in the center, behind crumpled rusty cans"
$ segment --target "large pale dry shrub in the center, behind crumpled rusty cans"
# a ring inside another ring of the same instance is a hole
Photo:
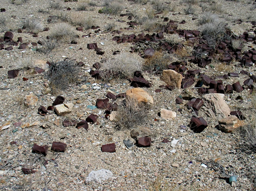
[[[141,71],[142,64],[130,53],[120,53],[101,64],[100,76],[103,81],[127,79],[135,71]]]

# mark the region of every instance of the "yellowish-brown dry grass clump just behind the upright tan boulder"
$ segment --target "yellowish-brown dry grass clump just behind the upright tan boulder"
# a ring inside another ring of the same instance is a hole
[[[147,58],[143,65],[144,70],[149,70],[152,73],[159,73],[167,69],[170,60],[161,51],[156,51],[152,57]]]

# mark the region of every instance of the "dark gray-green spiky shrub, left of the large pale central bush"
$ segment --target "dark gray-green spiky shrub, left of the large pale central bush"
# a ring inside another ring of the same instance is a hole
[[[75,60],[67,59],[53,62],[46,73],[46,78],[49,80],[53,92],[56,93],[75,83],[78,79],[78,72]]]

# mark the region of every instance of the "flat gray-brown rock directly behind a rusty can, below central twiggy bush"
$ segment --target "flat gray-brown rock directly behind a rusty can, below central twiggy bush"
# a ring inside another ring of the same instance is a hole
[[[138,140],[140,137],[150,137],[152,141],[155,141],[160,137],[160,134],[148,127],[137,127],[132,129],[131,137]]]

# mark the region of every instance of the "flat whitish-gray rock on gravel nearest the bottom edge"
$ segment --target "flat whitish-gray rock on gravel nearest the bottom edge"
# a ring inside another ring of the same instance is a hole
[[[112,176],[113,173],[110,170],[100,169],[98,171],[91,171],[86,177],[85,182],[88,183],[90,181],[97,181],[101,183],[104,180],[108,180]]]

